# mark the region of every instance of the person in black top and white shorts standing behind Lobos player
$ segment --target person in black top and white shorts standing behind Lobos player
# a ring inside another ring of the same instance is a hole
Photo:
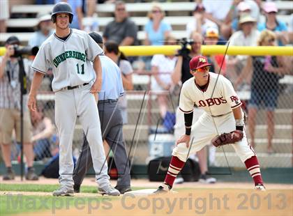
[[[185,50],[179,50],[178,52],[178,60],[176,62],[174,71],[172,72],[172,81],[174,84],[181,82],[183,84],[186,80],[190,79],[192,75],[190,74],[189,61],[193,58],[193,56],[197,56],[201,54],[202,47],[202,34],[193,31],[191,33],[191,37],[193,43],[191,44],[190,53],[186,53]],[[193,110],[193,123],[200,117],[202,114],[201,109],[195,108]],[[183,112],[179,110],[179,107],[176,109],[176,124],[174,125],[174,136],[175,139],[179,138],[182,133],[184,133],[185,125],[184,125],[184,115]],[[183,132],[182,132],[183,131]],[[200,182],[202,183],[215,183],[215,178],[207,178],[206,174],[208,171],[207,167],[207,156],[206,156],[206,148],[202,148],[201,151],[197,152],[197,157],[200,164]]]

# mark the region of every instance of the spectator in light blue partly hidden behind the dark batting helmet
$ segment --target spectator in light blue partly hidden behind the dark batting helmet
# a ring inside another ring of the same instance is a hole
[[[73,8],[73,22],[71,22],[70,28],[83,30],[82,18],[84,15],[82,13],[82,0],[55,0],[55,3],[61,1],[67,2]]]

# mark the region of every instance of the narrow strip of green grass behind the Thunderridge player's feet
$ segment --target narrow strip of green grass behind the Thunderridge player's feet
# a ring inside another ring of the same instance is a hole
[[[1,184],[0,191],[19,191],[19,192],[53,192],[59,185],[29,185],[29,184]],[[147,187],[132,187],[133,190],[146,189]],[[82,193],[96,193],[96,186],[82,186]]]

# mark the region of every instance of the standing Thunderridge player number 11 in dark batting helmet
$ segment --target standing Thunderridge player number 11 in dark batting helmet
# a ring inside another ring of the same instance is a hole
[[[35,70],[28,107],[36,110],[36,92],[48,68],[52,68],[55,93],[55,123],[59,134],[59,190],[54,196],[73,194],[73,132],[77,116],[89,141],[99,191],[119,195],[110,185],[103,149],[98,108],[93,94],[101,88],[102,49],[84,31],[70,29],[73,20],[68,3],[57,3],[52,11],[56,33],[41,45],[31,68]],[[91,61],[93,65],[91,65]]]

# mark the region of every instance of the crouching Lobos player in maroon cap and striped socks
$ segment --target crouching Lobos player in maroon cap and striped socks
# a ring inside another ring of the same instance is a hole
[[[243,134],[243,138],[232,146],[250,172],[255,189],[265,190],[260,165],[243,130],[241,101],[228,79],[209,72],[210,65],[205,56],[195,56],[190,60],[190,73],[193,77],[183,84],[179,100],[179,109],[184,113],[186,132],[176,141],[165,181],[155,193],[168,192],[172,189],[174,180],[188,155],[200,151],[219,134],[238,132]],[[192,125],[195,105],[203,109],[204,114]]]

